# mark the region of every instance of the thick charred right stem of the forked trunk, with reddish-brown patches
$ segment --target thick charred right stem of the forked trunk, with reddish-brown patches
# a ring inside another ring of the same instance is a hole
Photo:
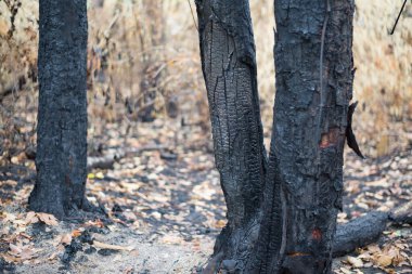
[[[275,171],[265,191],[260,263],[249,273],[330,271],[352,97],[353,6],[350,0],[274,1],[276,96],[269,173]]]

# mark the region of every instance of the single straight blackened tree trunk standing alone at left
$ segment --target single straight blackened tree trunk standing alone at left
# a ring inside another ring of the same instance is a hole
[[[37,179],[29,207],[57,218],[87,205],[86,2],[39,1]]]

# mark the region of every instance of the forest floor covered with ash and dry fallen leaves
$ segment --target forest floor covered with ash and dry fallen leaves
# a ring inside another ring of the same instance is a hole
[[[0,273],[197,273],[226,224],[226,207],[205,133],[175,126],[158,120],[128,131],[106,125],[104,134],[89,133],[93,157],[131,152],[113,168],[90,170],[87,196],[100,210],[94,217],[56,221],[29,212],[34,161],[22,153],[1,167]],[[378,159],[347,152],[344,169],[339,223],[391,209],[412,198],[412,138]],[[412,273],[412,227],[389,225],[376,244],[335,259],[333,268]]]

